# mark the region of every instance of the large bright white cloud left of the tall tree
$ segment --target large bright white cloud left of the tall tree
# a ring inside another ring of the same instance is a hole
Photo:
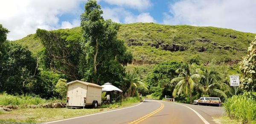
[[[78,22],[59,23],[61,14],[80,14],[79,4],[85,0],[1,0],[0,24],[11,31],[8,39],[15,40],[35,33],[37,28],[53,30],[72,28]]]

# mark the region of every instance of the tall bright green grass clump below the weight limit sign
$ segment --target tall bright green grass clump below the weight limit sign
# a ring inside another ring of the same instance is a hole
[[[227,115],[243,123],[256,123],[256,92],[232,96],[224,103]]]

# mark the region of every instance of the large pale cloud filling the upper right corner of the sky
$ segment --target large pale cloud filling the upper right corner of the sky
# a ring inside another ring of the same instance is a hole
[[[164,13],[164,24],[232,28],[256,33],[256,0],[180,0]]]

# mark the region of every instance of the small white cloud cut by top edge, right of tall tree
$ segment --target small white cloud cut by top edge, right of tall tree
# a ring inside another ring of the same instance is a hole
[[[150,0],[102,0],[111,5],[131,7],[143,10],[151,6]]]

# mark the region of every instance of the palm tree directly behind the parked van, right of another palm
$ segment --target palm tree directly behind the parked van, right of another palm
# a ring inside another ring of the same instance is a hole
[[[221,89],[227,90],[229,92],[230,87],[220,82],[221,77],[220,74],[216,71],[208,71],[207,69],[203,71],[200,83],[197,84],[197,87],[201,92],[205,95],[216,95],[223,96],[227,98],[226,93]]]

